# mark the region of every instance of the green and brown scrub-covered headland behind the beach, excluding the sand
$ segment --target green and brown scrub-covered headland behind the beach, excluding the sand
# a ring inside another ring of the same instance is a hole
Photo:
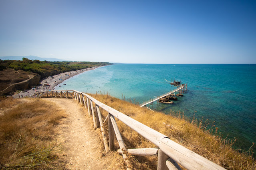
[[[107,62],[39,61],[23,58],[20,60],[0,60],[0,95],[10,95],[38,85],[40,79],[67,71],[76,71],[103,65]]]

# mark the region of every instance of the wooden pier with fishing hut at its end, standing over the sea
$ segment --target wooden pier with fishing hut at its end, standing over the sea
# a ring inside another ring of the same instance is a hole
[[[150,99],[146,102],[143,102],[142,104],[140,104],[139,106],[140,107],[143,107],[143,106],[146,106],[148,104],[151,104],[154,102],[154,101],[157,101],[165,96],[168,96],[168,95],[171,95],[171,94],[175,94],[175,92],[179,91],[179,93],[182,93],[182,91],[184,92],[184,90],[187,90],[187,84],[181,84],[179,81],[173,81],[173,82],[170,82],[171,86],[173,85],[173,88],[174,87],[177,87],[176,89],[173,89],[171,90],[170,92],[168,93],[165,93],[161,96],[158,96],[158,97],[155,97],[154,99]],[[147,107],[147,106],[146,106]]]

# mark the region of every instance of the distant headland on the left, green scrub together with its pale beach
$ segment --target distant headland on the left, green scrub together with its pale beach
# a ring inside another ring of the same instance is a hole
[[[39,61],[25,57],[22,60],[0,60],[0,95],[17,97],[15,94],[21,92],[20,96],[23,97],[31,95],[31,88],[34,91],[53,89],[69,77],[111,64],[89,61]],[[44,80],[48,82],[44,84]]]

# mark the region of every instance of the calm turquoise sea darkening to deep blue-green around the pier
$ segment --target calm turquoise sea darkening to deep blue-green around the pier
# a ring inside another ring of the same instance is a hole
[[[123,95],[143,103],[170,91],[164,79],[181,80],[188,90],[172,105],[154,103],[153,109],[215,121],[224,136],[238,138],[241,148],[256,142],[256,65],[117,64],[81,73],[57,89]]]

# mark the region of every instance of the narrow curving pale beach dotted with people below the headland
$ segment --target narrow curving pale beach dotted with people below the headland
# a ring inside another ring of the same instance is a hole
[[[102,67],[102,66],[99,66],[99,67]],[[40,80],[39,85],[32,87],[31,89],[26,89],[19,93],[15,93],[14,95],[12,95],[12,97],[22,98],[22,97],[28,97],[30,95],[33,95],[33,94],[41,92],[41,91],[54,90],[54,88],[58,84],[62,83],[64,80],[69,79],[69,78],[71,78],[75,75],[78,75],[80,73],[83,73],[85,71],[93,70],[96,68],[98,68],[98,67],[92,67],[92,68],[81,69],[81,70],[76,70],[76,71],[69,71],[69,72],[60,73],[60,74],[57,74],[54,76],[46,77],[46,78]]]

